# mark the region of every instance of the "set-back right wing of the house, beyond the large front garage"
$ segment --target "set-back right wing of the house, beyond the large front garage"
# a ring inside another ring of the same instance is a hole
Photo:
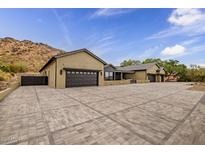
[[[105,80],[132,79],[136,82],[164,82],[165,71],[156,63],[116,67],[105,65]]]

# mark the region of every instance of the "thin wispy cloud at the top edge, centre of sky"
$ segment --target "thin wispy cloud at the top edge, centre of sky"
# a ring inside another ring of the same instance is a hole
[[[91,18],[116,16],[120,14],[130,13],[134,10],[135,9],[110,9],[110,8],[98,9],[91,15]]]

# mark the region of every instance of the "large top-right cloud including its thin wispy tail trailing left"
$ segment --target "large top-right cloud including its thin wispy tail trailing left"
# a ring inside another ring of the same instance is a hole
[[[171,13],[168,21],[171,27],[152,34],[146,39],[162,39],[178,35],[199,36],[205,33],[205,13],[200,9],[176,9]]]

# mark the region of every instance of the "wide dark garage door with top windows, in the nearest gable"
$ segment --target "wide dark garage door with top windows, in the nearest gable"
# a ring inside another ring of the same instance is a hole
[[[68,70],[66,87],[97,86],[98,72],[89,70]]]

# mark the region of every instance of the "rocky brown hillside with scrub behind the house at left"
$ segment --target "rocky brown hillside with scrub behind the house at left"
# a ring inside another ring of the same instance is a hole
[[[43,43],[0,38],[0,64],[21,64],[28,72],[38,72],[48,59],[63,52]]]

